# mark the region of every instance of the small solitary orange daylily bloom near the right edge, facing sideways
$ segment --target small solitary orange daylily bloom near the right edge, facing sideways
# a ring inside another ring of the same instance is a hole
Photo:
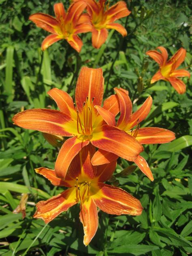
[[[168,59],[168,53],[162,46],[157,47],[161,51],[147,51],[146,54],[154,59],[160,66],[158,72],[152,77],[151,83],[155,83],[158,80],[169,81],[174,89],[183,94],[186,92],[186,85],[182,80],[177,77],[190,77],[190,73],[185,69],[177,69],[186,58],[186,50],[182,47]]]

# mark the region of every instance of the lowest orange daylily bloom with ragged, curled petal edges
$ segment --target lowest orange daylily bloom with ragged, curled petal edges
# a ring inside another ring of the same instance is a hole
[[[85,245],[90,243],[98,228],[97,207],[106,213],[116,215],[140,215],[143,210],[137,198],[121,188],[103,183],[113,174],[116,161],[92,166],[90,158],[94,153],[95,147],[91,144],[84,147],[73,159],[65,181],[57,178],[54,170],[44,167],[36,169],[36,173],[49,179],[53,185],[69,188],[47,201],[38,202],[34,218],[41,218],[48,223],[79,202],[79,218],[84,228]]]

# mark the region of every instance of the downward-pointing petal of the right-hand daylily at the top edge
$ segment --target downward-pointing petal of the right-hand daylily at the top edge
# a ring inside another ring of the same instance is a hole
[[[107,40],[108,31],[105,28],[102,28],[100,30],[96,30],[93,28],[92,30],[92,45],[96,49],[99,49],[101,45],[105,43]]]

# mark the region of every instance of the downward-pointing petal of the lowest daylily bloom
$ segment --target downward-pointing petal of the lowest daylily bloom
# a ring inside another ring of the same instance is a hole
[[[85,234],[83,243],[84,245],[88,245],[94,237],[98,228],[97,207],[92,198],[89,198],[88,200],[83,202],[79,218],[81,223],[83,224],[83,230]]]

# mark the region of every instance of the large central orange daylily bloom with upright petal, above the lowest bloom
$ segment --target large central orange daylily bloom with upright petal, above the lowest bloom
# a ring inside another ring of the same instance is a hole
[[[48,94],[55,100],[60,111],[52,109],[29,109],[17,113],[13,117],[14,124],[26,129],[38,130],[64,137],[55,162],[55,172],[60,178],[65,178],[68,166],[78,152],[90,142],[95,147],[134,161],[143,151],[142,145],[130,134],[124,132],[113,123],[106,122],[94,108],[102,103],[104,78],[101,68],[81,69],[75,90],[75,105],[66,92],[57,88]],[[104,101],[103,109],[116,115],[119,111],[115,95]]]

